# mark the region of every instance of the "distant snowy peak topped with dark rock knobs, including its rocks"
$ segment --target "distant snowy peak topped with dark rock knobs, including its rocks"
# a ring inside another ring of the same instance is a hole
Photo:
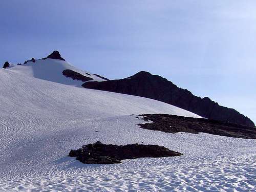
[[[3,68],[10,71],[22,73],[24,75],[81,87],[85,81],[105,81],[108,80],[100,75],[79,70],[63,59],[58,51],[53,51],[47,57],[35,59],[34,57],[24,62],[24,65],[12,65],[5,62]]]

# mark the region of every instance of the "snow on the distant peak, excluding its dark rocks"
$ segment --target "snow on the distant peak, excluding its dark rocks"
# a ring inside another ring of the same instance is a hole
[[[23,65],[11,65],[8,69],[29,77],[36,77],[39,79],[58,82],[61,84],[68,84],[75,87],[81,87],[84,82],[65,77],[62,75],[63,70],[70,69],[78,72],[84,76],[91,77],[93,79],[92,81],[104,81],[104,79],[92,73],[79,70],[72,66],[69,62],[59,59],[38,59],[35,62],[29,61]]]

